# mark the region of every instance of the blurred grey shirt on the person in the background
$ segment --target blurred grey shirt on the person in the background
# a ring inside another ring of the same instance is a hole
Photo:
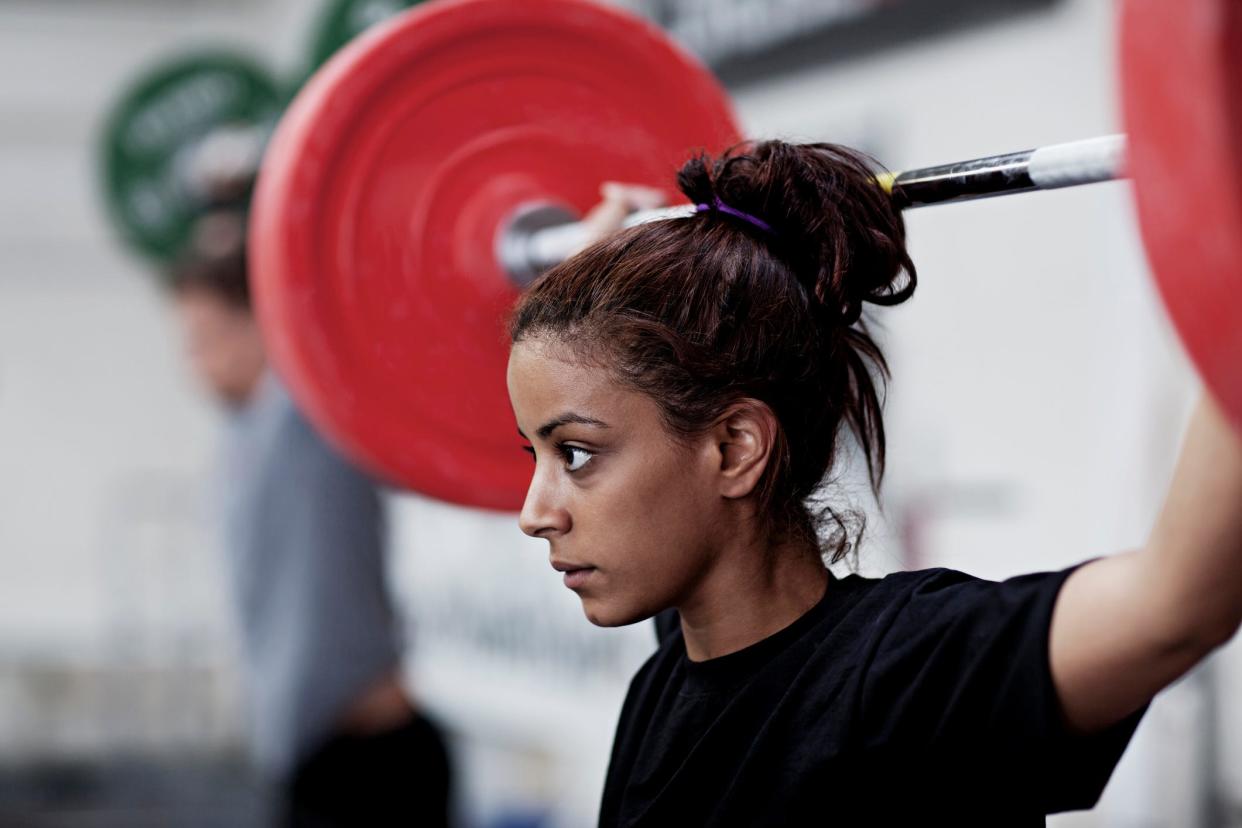
[[[224,484],[253,756],[287,778],[397,664],[383,506],[271,376],[232,417]]]

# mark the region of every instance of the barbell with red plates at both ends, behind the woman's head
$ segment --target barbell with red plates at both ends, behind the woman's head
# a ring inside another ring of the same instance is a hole
[[[1134,178],[1165,303],[1242,422],[1242,25],[1230,0],[1128,0],[1128,138],[877,179],[902,207]],[[606,180],[663,190],[740,140],[715,78],[650,24],[589,0],[443,0],[347,46],[281,120],[251,211],[271,356],[302,408],[391,482],[520,505],[503,323],[580,246]],[[678,215],[657,212],[650,220]],[[684,209],[682,209],[684,210]]]

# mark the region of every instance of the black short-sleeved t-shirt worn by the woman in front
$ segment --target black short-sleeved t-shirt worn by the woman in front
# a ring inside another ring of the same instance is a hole
[[[1074,735],[1048,665],[1072,570],[832,578],[791,626],[691,662],[676,618],[630,685],[612,826],[1042,826],[1099,798],[1144,710]]]

